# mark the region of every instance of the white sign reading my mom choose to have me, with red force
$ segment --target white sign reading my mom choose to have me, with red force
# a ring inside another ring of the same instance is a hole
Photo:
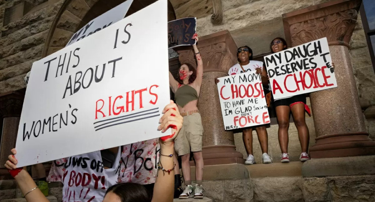
[[[260,74],[221,77],[217,89],[225,130],[270,123]]]

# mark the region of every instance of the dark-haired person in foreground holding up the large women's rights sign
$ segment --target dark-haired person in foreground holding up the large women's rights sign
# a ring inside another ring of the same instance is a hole
[[[172,202],[174,192],[174,139],[182,127],[183,118],[177,105],[171,101],[163,109],[158,130],[166,131],[171,126],[172,135],[160,138],[160,159],[158,163],[158,177],[155,182],[153,195],[147,192],[145,187],[135,183],[116,184],[108,188],[103,202]],[[12,149],[5,167],[20,186],[21,192],[28,202],[48,202],[48,199],[38,189],[35,182],[25,169],[17,168],[17,159]],[[69,179],[65,179],[69,180]],[[79,193],[74,194],[78,198]],[[74,197],[73,194],[71,197]],[[87,199],[89,201],[89,199]]]

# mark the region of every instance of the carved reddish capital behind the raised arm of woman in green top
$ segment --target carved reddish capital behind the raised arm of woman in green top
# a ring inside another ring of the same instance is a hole
[[[229,68],[236,64],[237,45],[228,30],[200,37],[197,48],[202,56],[204,72],[228,73]],[[191,46],[188,50],[177,52],[181,64],[189,63],[196,67],[195,54]]]

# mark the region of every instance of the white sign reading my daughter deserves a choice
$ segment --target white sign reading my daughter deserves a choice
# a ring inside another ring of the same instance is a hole
[[[264,57],[273,98],[336,88],[327,38]]]

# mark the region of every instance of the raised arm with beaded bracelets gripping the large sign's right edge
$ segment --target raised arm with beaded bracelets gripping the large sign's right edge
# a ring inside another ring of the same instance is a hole
[[[172,134],[160,138],[160,158],[157,178],[151,202],[172,202],[174,193],[174,139],[182,127],[183,118],[178,112],[177,105],[170,102],[163,110],[159,130],[172,128]],[[172,156],[171,156],[172,155]]]

